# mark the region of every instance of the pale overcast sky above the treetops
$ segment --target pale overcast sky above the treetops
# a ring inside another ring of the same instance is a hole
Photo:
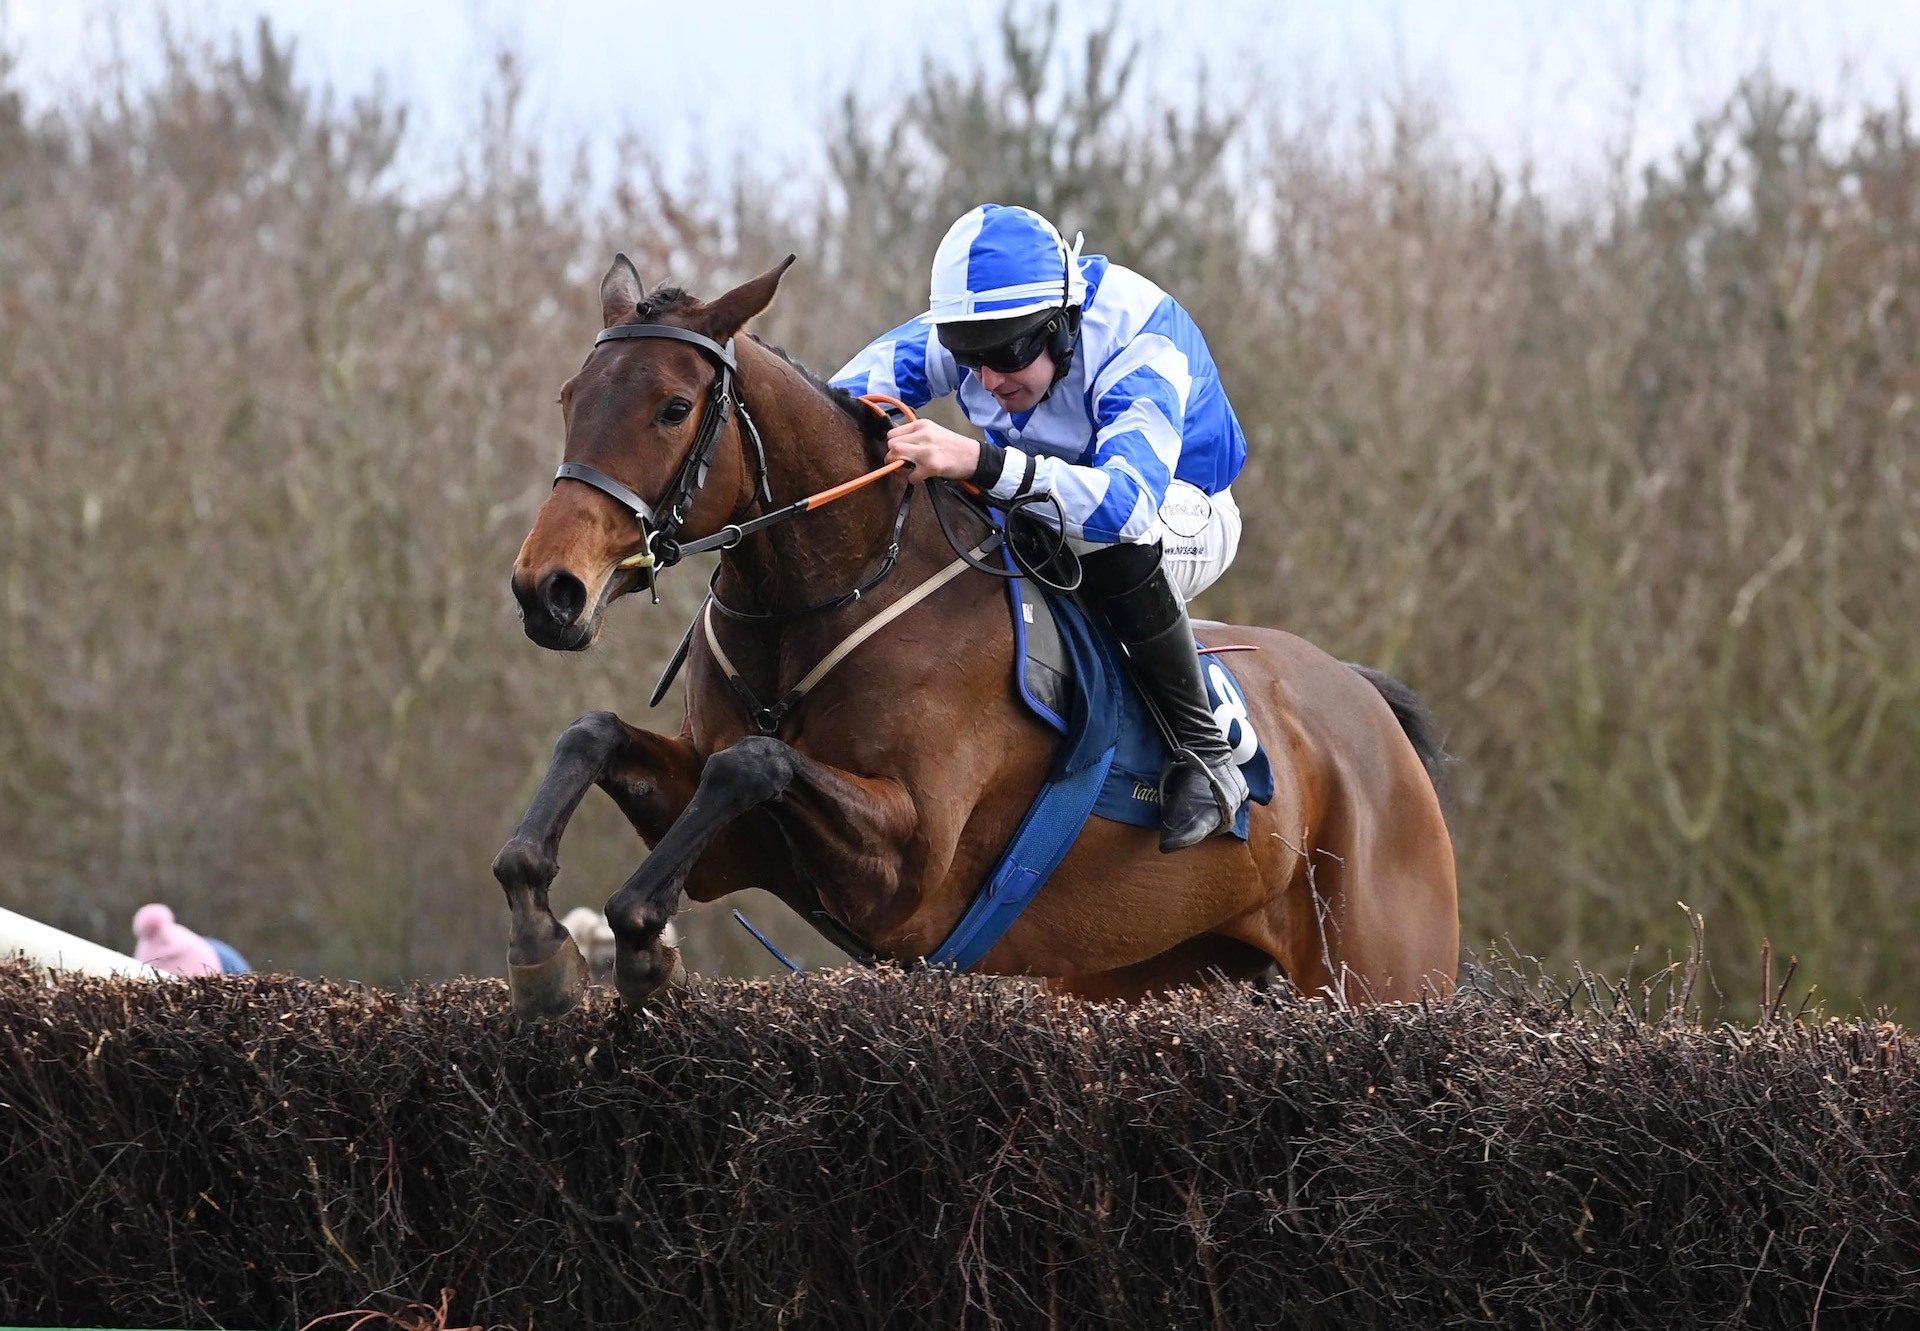
[[[1695,111],[1757,63],[1828,102],[1920,86],[1920,0],[1110,0],[1150,52],[1144,75],[1277,115],[1394,90],[1432,94],[1482,152],[1555,177],[1592,173],[1609,146],[1665,152]],[[1039,8],[1039,6],[1033,6]],[[1069,6],[1085,31],[1108,2]],[[0,42],[29,94],[60,98],[119,52],[154,67],[161,21],[198,35],[253,15],[298,40],[309,77],[376,81],[417,115],[417,169],[453,157],[492,54],[528,67],[528,111],[555,144],[643,134],[674,165],[818,163],[820,131],[851,81],[881,104],[920,60],[991,40],[996,4],[947,0],[0,0]]]

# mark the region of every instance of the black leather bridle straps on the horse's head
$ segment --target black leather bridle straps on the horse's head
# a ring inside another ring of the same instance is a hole
[[[753,442],[753,457],[760,469],[760,499],[772,505],[774,494],[766,480],[766,446],[760,442],[758,426],[755,426],[753,417],[747,413],[747,403],[739,401],[739,396],[733,392],[739,363],[733,359],[732,338],[728,338],[726,346],[720,346],[712,338],[693,332],[691,328],[674,328],[664,323],[622,323],[612,328],[603,328],[601,334],[593,338],[593,346],[599,346],[601,342],[622,342],[628,338],[687,342],[699,348],[701,353],[714,363],[714,384],[707,394],[707,413],[701,417],[699,434],[693,436],[693,448],[682,459],[680,469],[666,486],[666,494],[660,496],[659,509],[634,494],[632,488],[620,484],[597,467],[588,467],[586,463],[561,463],[559,471],[553,472],[553,484],[578,480],[586,486],[593,486],[620,507],[632,511],[634,520],[639,522],[639,532],[647,547],[637,555],[622,559],[620,569],[645,569],[647,593],[653,597],[653,603],[659,605],[659,569],[672,569],[687,555],[737,545],[751,532],[770,526],[778,515],[770,513],[751,522],[730,522],[712,536],[703,536],[701,540],[680,540],[680,532],[687,524],[687,511],[693,507],[693,499],[701,492],[701,486],[707,484],[707,472],[712,471],[714,448],[720,444],[720,432],[726,428],[728,417],[735,411],[739,413],[741,430]]]

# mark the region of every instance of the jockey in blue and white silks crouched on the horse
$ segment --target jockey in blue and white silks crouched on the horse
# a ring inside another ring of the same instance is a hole
[[[1231,830],[1248,797],[1187,620],[1240,545],[1227,486],[1246,436],[1192,317],[1079,248],[1025,207],[968,211],[933,254],[927,313],[881,334],[833,386],[912,407],[958,394],[985,440],[914,421],[887,436],[887,457],[995,499],[1060,503],[1083,599],[1125,643],[1181,751],[1160,809],[1160,849],[1177,851]],[[1052,520],[1050,505],[1027,513]]]

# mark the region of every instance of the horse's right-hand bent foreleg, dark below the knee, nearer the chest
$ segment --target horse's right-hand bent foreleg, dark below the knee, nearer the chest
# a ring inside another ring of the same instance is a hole
[[[897,782],[841,772],[780,739],[739,739],[707,759],[685,812],[607,899],[614,983],[628,1003],[645,1001],[668,980],[657,939],[695,860],[728,824],[768,803],[780,805],[776,822],[797,860],[824,859],[874,893],[899,883],[916,816]]]

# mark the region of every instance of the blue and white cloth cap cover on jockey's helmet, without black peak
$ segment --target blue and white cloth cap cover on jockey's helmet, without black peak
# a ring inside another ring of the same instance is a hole
[[[1060,305],[1079,305],[1087,278],[1073,248],[1029,207],[981,204],[947,229],[933,252],[933,323],[1014,319]]]

